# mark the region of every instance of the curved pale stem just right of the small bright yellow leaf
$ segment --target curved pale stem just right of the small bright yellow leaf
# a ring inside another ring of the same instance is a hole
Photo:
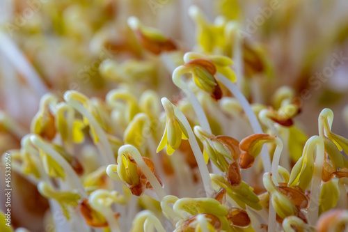
[[[100,124],[97,122],[97,120],[94,118],[94,116],[90,114],[90,111],[88,111],[88,109],[86,109],[83,105],[77,102],[77,100],[72,99],[68,91],[65,92],[64,99],[66,102],[68,102],[68,105],[79,111],[80,114],[87,118],[88,123],[93,127],[93,129],[97,133],[97,136],[100,140],[100,144],[102,144],[102,155],[104,155],[104,160],[106,164],[116,164],[116,159],[113,155],[113,151],[106,137],[106,133],[104,132]]]

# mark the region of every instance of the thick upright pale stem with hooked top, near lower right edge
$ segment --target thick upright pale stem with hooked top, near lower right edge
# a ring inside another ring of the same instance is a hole
[[[311,225],[315,225],[317,223],[318,215],[319,215],[319,196],[320,189],[322,185],[322,169],[324,164],[324,141],[319,136],[313,136],[308,139],[307,142],[310,142],[311,146],[317,147],[317,154],[315,158],[315,167],[313,173],[313,182],[310,187],[310,200],[308,205],[308,217]],[[308,150],[313,150],[308,148]],[[308,154],[314,155],[314,154]]]

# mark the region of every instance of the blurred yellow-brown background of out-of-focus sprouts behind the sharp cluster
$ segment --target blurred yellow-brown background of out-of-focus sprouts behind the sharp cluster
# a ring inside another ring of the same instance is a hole
[[[190,17],[192,5],[201,18]],[[296,122],[304,132],[317,134],[319,112],[329,107],[333,131],[347,137],[347,9],[345,0],[0,0],[0,109],[29,132],[47,92],[63,98],[74,89],[104,98],[113,88],[136,85],[160,97],[175,95],[170,70],[139,44],[128,17],[173,40],[177,63],[191,50],[233,58],[236,37],[223,30],[232,21],[244,42],[239,87],[248,100],[271,105],[278,87],[291,86],[301,100]],[[119,64],[119,75],[100,74],[105,59]],[[13,148],[19,139],[0,127],[0,153]],[[14,196],[13,224],[42,231],[47,202],[29,183],[20,186],[30,194]]]

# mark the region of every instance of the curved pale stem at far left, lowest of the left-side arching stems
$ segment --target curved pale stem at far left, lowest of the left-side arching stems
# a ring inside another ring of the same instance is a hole
[[[31,143],[39,149],[42,149],[47,153],[52,159],[54,159],[61,167],[64,169],[67,179],[71,181],[72,188],[75,188],[79,191],[79,194],[82,198],[87,198],[88,194],[84,190],[84,185],[82,185],[79,176],[75,173],[74,169],[70,164],[58,153],[52,146],[49,146],[45,141],[40,139],[38,135],[32,134],[30,136]]]

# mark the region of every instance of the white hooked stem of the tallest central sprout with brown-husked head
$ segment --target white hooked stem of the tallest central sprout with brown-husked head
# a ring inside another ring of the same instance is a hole
[[[187,95],[187,98],[189,98],[189,102],[191,103],[196,113],[200,126],[209,134],[212,134],[212,130],[210,129],[209,121],[207,119],[207,116],[205,115],[203,107],[200,105],[200,102],[198,101],[191,88],[181,79],[182,74],[184,74],[185,72],[185,68],[186,67],[182,65],[175,68],[172,75],[173,83],[177,87],[181,88],[181,90]]]

